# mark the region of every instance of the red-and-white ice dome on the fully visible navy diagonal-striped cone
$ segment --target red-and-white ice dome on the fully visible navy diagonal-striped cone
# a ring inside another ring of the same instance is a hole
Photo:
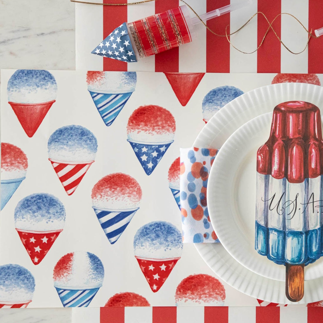
[[[130,175],[113,173],[104,176],[92,189],[94,207],[108,210],[126,210],[139,207],[142,191]]]

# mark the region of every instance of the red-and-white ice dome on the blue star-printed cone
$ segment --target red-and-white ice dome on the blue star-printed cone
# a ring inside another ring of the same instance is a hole
[[[145,105],[134,110],[127,124],[128,139],[132,141],[172,141],[175,130],[172,113],[158,105]]]

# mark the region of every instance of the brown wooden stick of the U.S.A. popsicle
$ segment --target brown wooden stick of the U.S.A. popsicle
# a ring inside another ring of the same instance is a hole
[[[286,264],[286,297],[298,302],[304,296],[304,264]]]

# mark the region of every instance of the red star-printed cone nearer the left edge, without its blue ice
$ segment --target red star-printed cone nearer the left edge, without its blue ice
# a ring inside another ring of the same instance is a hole
[[[26,231],[17,228],[16,230],[34,265],[38,265],[44,259],[58,235],[63,231],[63,229],[55,231]]]

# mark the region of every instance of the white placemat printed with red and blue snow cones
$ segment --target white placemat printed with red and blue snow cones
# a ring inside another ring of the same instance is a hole
[[[182,243],[179,155],[275,76],[3,70],[0,307],[256,306]]]

